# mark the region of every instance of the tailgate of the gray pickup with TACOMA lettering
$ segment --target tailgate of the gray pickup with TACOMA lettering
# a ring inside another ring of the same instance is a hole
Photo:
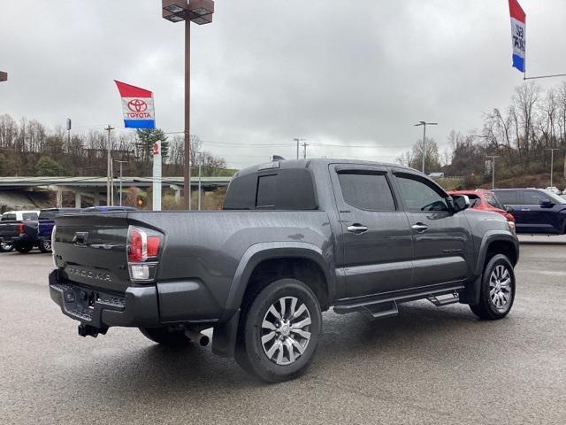
[[[127,270],[126,213],[61,215],[54,255],[65,279],[123,293],[131,284]]]

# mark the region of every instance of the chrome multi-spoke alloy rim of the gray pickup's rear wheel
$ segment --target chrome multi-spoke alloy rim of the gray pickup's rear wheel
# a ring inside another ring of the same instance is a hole
[[[298,298],[275,301],[265,313],[261,338],[265,355],[278,365],[294,363],[310,342],[310,313]]]

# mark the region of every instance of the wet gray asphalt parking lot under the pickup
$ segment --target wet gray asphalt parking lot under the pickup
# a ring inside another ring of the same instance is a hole
[[[507,319],[325,313],[309,372],[278,385],[136,329],[81,338],[50,300],[50,256],[0,254],[0,423],[566,423],[566,237],[523,239]]]

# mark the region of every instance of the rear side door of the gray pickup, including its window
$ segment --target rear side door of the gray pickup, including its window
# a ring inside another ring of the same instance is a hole
[[[412,284],[412,241],[407,215],[378,166],[331,166],[340,213],[340,248],[348,298]]]

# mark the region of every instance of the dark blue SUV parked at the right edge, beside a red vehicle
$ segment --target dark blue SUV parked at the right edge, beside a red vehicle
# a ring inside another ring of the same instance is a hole
[[[494,189],[513,208],[516,232],[530,235],[566,234],[566,199],[545,189]]]

